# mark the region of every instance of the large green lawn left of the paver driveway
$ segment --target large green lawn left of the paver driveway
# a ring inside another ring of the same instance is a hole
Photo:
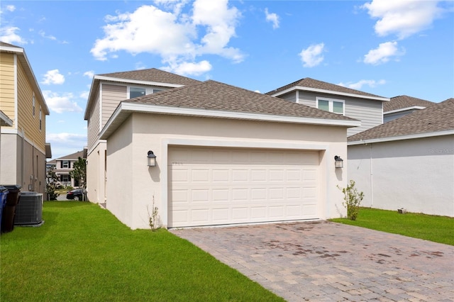
[[[131,230],[93,203],[45,201],[1,235],[0,301],[283,301],[167,230]]]

